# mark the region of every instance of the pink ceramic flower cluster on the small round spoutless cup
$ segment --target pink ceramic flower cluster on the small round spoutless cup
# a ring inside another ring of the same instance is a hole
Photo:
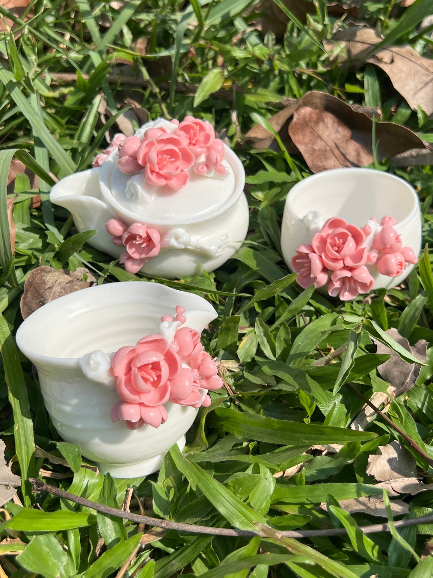
[[[377,223],[375,218],[371,221]],[[393,228],[396,223],[393,217],[383,217],[380,230],[372,235],[368,224],[360,229],[342,218],[328,219],[313,236],[311,245],[302,244],[296,249],[291,264],[298,274],[297,283],[304,288],[327,283],[331,297],[338,295],[348,301],[368,293],[373,286],[374,279],[365,265],[376,264],[379,273],[389,277],[401,275],[409,263],[418,260],[410,247],[402,247]]]

